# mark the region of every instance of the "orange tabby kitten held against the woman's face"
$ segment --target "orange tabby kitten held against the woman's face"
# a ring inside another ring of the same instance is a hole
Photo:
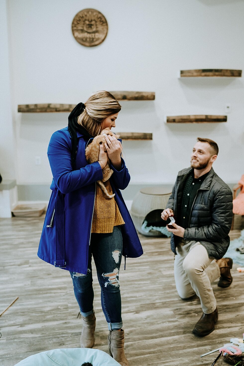
[[[115,135],[112,131],[109,130],[109,127],[102,130],[101,134],[94,137],[93,141],[87,146],[86,148],[86,160],[89,164],[94,163],[95,161],[98,161],[98,156],[100,153],[100,142],[104,144],[106,142],[104,135],[110,135],[114,136],[116,138],[119,138],[119,135]],[[102,182],[106,182],[110,178],[110,176],[113,174],[112,169],[109,168],[109,159],[107,161],[107,164],[105,165],[105,169],[103,169],[103,178],[102,180],[98,180],[97,183],[102,188],[102,191],[105,193],[106,197],[113,198],[115,196],[114,194],[108,194],[108,191],[106,190],[106,187]]]

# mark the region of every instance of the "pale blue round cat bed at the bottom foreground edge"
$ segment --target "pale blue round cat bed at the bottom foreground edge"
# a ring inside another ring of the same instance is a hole
[[[93,366],[120,366],[104,351],[91,348],[59,348],[40,352],[15,366],[80,366],[85,362],[90,362]]]

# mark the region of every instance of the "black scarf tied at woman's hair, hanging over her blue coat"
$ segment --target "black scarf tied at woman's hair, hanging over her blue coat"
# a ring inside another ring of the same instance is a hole
[[[77,118],[79,115],[84,111],[86,108],[84,103],[79,103],[75,106],[75,108],[71,111],[70,115],[68,116],[68,131],[71,137],[71,164],[72,167],[75,168],[75,160],[76,160],[76,153],[77,153],[77,133],[79,131],[82,135],[91,138],[89,132],[85,129],[85,127],[81,126],[77,122]]]

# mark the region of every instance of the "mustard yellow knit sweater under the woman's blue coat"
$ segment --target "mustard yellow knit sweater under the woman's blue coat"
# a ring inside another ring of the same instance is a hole
[[[109,180],[104,182],[104,185],[108,191],[108,194],[113,194]],[[106,197],[99,184],[96,184],[95,205],[91,232],[113,232],[114,226],[123,225],[124,223],[125,222],[121,216],[115,198]]]

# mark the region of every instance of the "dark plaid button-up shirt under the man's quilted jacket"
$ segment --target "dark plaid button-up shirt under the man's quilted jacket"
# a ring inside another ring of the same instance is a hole
[[[192,204],[203,180],[208,174],[209,172],[199,178],[194,178],[194,169],[192,169],[185,182],[181,200],[180,223],[178,224],[184,229],[189,227]]]

